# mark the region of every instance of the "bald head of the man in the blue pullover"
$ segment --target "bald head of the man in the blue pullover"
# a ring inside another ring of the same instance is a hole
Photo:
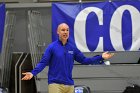
[[[57,34],[59,35],[60,40],[67,41],[69,38],[69,26],[65,23],[60,24],[57,29]]]

